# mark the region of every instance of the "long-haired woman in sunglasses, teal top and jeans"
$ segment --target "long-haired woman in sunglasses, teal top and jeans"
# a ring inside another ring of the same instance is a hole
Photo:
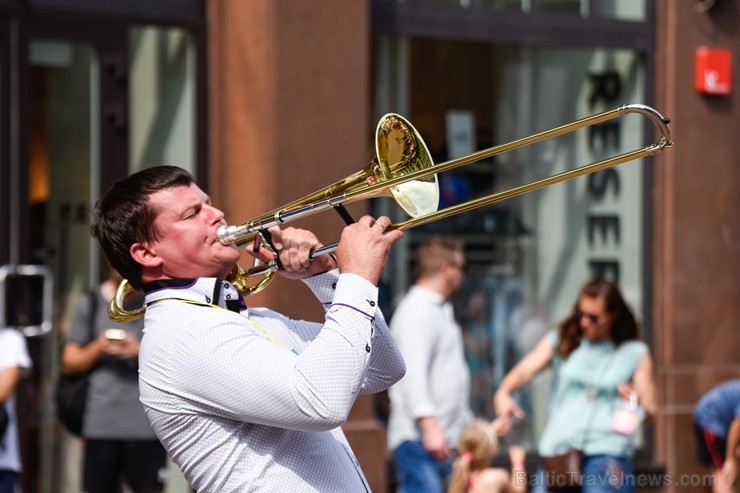
[[[505,376],[493,397],[496,414],[524,419],[513,393],[546,368],[552,392],[539,454],[580,451],[583,476],[571,486],[576,475],[540,467],[533,491],[633,492],[634,435],[657,401],[650,352],[614,283],[594,279],[581,288],[571,314]]]

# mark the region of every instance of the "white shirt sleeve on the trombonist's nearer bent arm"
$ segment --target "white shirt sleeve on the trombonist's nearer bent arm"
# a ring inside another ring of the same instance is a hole
[[[173,359],[163,366],[170,367],[167,371],[174,378],[171,390],[186,403],[183,411],[304,431],[334,429],[346,421],[367,381],[402,376],[399,356],[380,376],[368,376],[373,352],[387,350],[382,345],[373,349],[376,306],[375,286],[342,274],[336,278],[323,327],[299,354],[266,336],[273,333],[272,339],[281,339],[295,329],[298,322],[279,314],[250,317],[261,327],[248,330],[244,326],[250,322],[236,313],[181,307],[180,320],[187,326],[177,330],[195,335],[192,340],[178,337],[187,347],[168,341],[172,353],[167,357]],[[155,313],[147,310],[147,317]],[[152,362],[148,364],[151,368]]]

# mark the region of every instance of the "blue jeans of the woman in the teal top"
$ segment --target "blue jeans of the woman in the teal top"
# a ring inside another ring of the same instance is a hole
[[[578,491],[576,489],[575,491]],[[634,493],[635,476],[632,464],[624,457],[589,455],[583,461],[582,493]],[[532,493],[545,493],[545,473],[537,469]]]

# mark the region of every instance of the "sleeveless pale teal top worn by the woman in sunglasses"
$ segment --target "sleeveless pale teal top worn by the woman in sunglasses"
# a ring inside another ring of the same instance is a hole
[[[546,337],[555,348],[557,331]],[[615,347],[611,340],[592,342],[585,338],[567,359],[556,350],[551,362],[550,417],[540,439],[540,455],[576,448],[586,455],[630,458],[634,438],[612,431],[611,420],[620,400],[617,384],[632,380],[647,350],[641,341]]]

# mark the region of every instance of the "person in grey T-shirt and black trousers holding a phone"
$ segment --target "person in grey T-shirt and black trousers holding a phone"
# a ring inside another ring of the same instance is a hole
[[[139,402],[138,355],[143,322],[110,320],[108,305],[121,276],[108,277],[78,299],[62,352],[62,371],[93,370],[83,436],[83,486],[87,493],[113,493],[121,481],[134,493],[164,489],[167,454]]]

